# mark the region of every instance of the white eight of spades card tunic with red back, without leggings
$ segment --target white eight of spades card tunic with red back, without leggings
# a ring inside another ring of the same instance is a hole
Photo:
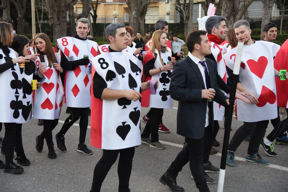
[[[97,77],[106,88],[136,90],[141,93],[141,76],[133,72],[132,67],[136,65],[137,58],[131,53],[107,52],[93,58],[91,62],[93,86],[94,78]],[[109,150],[140,145],[141,100],[135,102],[126,98],[117,100],[99,98],[92,96],[91,145]]]

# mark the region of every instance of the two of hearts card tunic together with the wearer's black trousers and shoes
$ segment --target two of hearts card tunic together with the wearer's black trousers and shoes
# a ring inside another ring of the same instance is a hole
[[[277,117],[273,57],[279,48],[279,45],[266,41],[253,41],[253,44],[243,47],[238,84],[241,83],[246,90],[254,94],[259,103],[245,104],[237,99],[237,120],[244,121],[244,125],[238,128],[228,145],[227,163],[229,165],[235,165],[234,159],[230,156],[234,155],[234,151],[251,132],[246,160],[263,165],[270,164],[261,159],[258,149],[265,135],[269,119]],[[237,47],[223,56],[230,69],[234,67],[236,51]],[[228,71],[229,78],[233,76],[231,71]],[[252,159],[253,157],[256,159]]]

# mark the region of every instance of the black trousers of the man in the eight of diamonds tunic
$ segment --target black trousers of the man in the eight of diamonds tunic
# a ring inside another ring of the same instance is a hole
[[[88,126],[88,112],[89,107],[79,108],[79,107],[71,107],[71,114],[65,120],[59,134],[65,135],[69,128],[80,118],[79,127],[80,127],[80,136],[79,143],[84,144]]]

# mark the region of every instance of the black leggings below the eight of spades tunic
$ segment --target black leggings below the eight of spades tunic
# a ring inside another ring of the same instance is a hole
[[[107,176],[111,166],[115,163],[118,153],[120,153],[118,162],[119,192],[129,191],[129,180],[132,170],[132,161],[135,153],[135,147],[118,150],[103,149],[103,155],[95,166],[91,192],[100,192],[102,183]]]

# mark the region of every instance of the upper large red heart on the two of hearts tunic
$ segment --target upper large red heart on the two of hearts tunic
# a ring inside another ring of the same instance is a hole
[[[268,60],[266,57],[261,56],[259,57],[259,59],[257,61],[253,60],[253,59],[249,59],[247,61],[247,64],[250,68],[250,71],[252,73],[254,73],[255,75],[257,75],[257,77],[259,77],[260,79],[262,79],[266,66],[268,65]]]

